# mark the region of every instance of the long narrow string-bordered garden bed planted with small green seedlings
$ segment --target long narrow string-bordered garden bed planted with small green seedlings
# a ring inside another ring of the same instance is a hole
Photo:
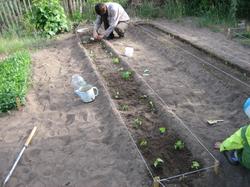
[[[158,108],[158,102],[149,96],[135,72],[101,43],[84,43],[153,175],[165,178],[202,168],[205,162],[201,155],[196,157],[189,149],[198,146],[188,145],[197,142],[187,137],[188,132],[183,134],[183,128],[173,127],[178,125],[171,124],[174,120],[167,119],[163,109]],[[191,186],[191,180],[181,183]]]

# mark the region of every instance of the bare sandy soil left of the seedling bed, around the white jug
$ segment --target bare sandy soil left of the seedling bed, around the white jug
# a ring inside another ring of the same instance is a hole
[[[1,178],[38,126],[8,186],[148,186],[145,167],[74,37],[32,56],[26,107],[0,118]],[[84,104],[74,95],[75,73],[99,88],[95,102]]]

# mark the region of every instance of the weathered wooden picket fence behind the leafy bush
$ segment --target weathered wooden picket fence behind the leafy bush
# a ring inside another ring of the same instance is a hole
[[[61,0],[65,13],[82,13],[86,0]],[[0,0],[0,32],[17,28],[25,13],[32,11],[32,0]]]

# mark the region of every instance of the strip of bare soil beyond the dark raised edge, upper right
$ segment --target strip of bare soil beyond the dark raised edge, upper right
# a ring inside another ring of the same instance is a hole
[[[155,25],[164,30],[191,42],[232,64],[250,71],[250,50],[241,44],[227,39],[226,35],[212,32],[207,28],[197,28],[194,23],[186,20],[175,23],[168,20],[156,20]]]

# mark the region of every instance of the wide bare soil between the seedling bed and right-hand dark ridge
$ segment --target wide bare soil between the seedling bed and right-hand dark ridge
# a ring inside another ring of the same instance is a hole
[[[153,28],[147,29],[152,33],[159,32]],[[149,70],[149,75],[143,76],[144,80],[220,160],[220,174],[211,174],[205,186],[248,186],[249,173],[241,167],[230,166],[221,154],[213,150],[213,144],[248,122],[242,104],[249,96],[249,88],[202,65],[200,58],[212,64],[221,62],[189,45],[173,41],[167,35],[157,34],[159,37],[152,37],[136,27],[130,30],[125,39],[111,43],[121,55],[126,46],[135,49],[133,58],[123,59],[141,76],[146,69]],[[176,45],[188,49],[196,57]],[[227,66],[220,68],[249,85],[249,77]],[[224,122],[211,127],[206,122],[209,119],[222,119]]]

